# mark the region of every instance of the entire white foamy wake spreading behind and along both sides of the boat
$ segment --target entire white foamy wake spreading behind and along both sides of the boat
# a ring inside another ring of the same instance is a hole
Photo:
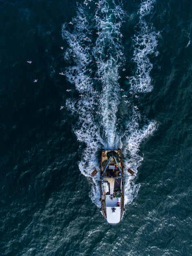
[[[78,166],[92,186],[89,196],[98,207],[99,177],[92,177],[91,173],[94,168],[99,170],[100,150],[122,148],[125,167],[136,173],[142,161],[140,145],[157,128],[156,122],[145,120],[134,104],[137,93],[153,89],[149,55],[158,54],[158,33],[145,21],[153,3],[142,1],[138,10],[139,25],[132,38],[132,61],[137,70],[128,78],[129,85],[124,89],[120,87],[119,72],[125,65],[121,25],[127,14],[122,4],[85,0],[84,6],[77,7],[76,17],[62,28],[63,39],[68,44],[64,53],[68,66],[63,72],[73,92],[66,107],[78,120],[73,126],[83,147]],[[138,193],[139,184],[135,184],[135,176],[128,176],[126,171],[125,175],[125,204],[128,204]]]

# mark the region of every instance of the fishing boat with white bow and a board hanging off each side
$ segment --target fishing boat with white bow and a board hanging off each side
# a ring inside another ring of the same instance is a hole
[[[124,172],[121,149],[103,149],[100,157],[100,201],[105,220],[115,225],[121,221],[124,209]],[[134,172],[128,168],[128,172]],[[92,175],[96,175],[96,169]]]

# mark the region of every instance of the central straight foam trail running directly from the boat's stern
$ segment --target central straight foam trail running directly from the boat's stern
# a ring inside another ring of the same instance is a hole
[[[120,85],[118,70],[124,63],[121,23],[125,12],[121,5],[114,1],[101,0],[94,20],[98,27],[98,38],[93,54],[97,63],[97,75],[101,79],[102,91],[100,97],[100,125],[103,126],[105,148],[115,148],[116,112],[120,103]]]

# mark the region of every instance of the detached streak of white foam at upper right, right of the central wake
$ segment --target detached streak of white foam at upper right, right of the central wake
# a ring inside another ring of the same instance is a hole
[[[154,2],[155,0],[142,1],[138,10],[138,32],[133,38],[135,45],[133,60],[137,64],[137,70],[134,76],[129,77],[133,92],[151,92],[153,90],[150,77],[153,65],[148,56],[159,54],[156,49],[159,33],[155,31],[152,24],[147,24],[145,16],[152,12]]]

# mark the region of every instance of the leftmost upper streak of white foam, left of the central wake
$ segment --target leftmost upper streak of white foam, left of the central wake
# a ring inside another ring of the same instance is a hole
[[[69,44],[65,52],[65,60],[74,65],[70,65],[65,70],[67,80],[75,85],[78,92],[87,92],[92,89],[92,81],[89,79],[91,74],[90,46],[86,44],[85,38],[89,35],[89,24],[82,7],[78,8],[76,18],[73,18],[74,31],[70,33],[66,25],[63,25],[62,36]]]

